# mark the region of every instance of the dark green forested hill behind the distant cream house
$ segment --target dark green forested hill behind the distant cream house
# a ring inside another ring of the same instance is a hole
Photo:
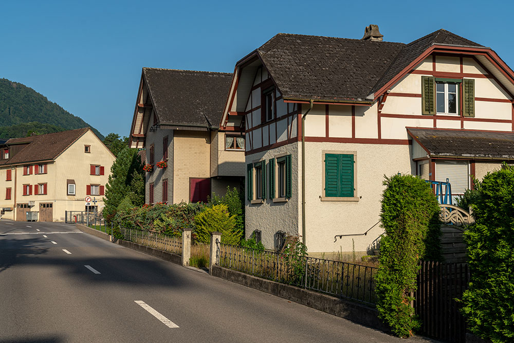
[[[0,79],[0,138],[25,137],[27,133],[45,134],[90,127],[34,89],[18,82]]]

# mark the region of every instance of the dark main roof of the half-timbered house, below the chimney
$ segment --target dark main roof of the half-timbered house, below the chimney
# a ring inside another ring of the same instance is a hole
[[[412,43],[279,33],[257,49],[289,99],[365,99],[432,44],[478,44],[446,30]]]

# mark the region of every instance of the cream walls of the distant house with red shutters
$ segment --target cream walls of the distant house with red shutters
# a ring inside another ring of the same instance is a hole
[[[85,145],[90,146],[90,153],[84,152]],[[87,131],[56,160],[47,163],[46,174],[23,175],[23,166],[14,167],[12,180],[4,181],[3,194],[0,195],[0,207],[13,208],[5,212],[4,218],[15,219],[16,203],[26,204],[29,201],[35,202],[29,209],[31,211],[39,211],[40,203],[52,203],[53,221],[64,221],[65,211],[84,211],[86,185],[105,186],[115,159],[102,141],[92,131]],[[90,165],[103,166],[104,175],[90,175]],[[0,169],[0,179],[6,179],[6,170],[7,167]],[[75,180],[75,195],[67,195],[67,179]],[[47,184],[47,194],[34,195],[34,185],[39,183]],[[23,195],[24,184],[32,185],[32,195]],[[5,200],[6,187],[11,187],[11,200]],[[96,206],[101,211],[104,206],[103,196],[91,197],[96,198]]]

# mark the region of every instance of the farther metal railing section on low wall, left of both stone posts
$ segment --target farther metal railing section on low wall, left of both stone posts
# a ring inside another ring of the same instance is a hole
[[[123,240],[150,246],[173,254],[182,255],[182,239],[170,234],[143,231],[137,229],[120,228],[114,229],[115,235],[121,235]]]

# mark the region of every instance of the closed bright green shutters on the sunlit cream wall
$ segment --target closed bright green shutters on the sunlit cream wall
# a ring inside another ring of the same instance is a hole
[[[354,155],[325,154],[325,196],[354,197]]]

